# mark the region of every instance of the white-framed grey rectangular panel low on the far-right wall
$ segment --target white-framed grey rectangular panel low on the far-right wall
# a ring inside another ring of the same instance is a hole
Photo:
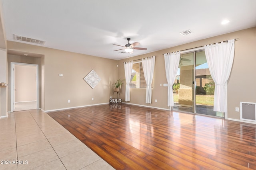
[[[240,119],[256,121],[256,103],[240,102]]]

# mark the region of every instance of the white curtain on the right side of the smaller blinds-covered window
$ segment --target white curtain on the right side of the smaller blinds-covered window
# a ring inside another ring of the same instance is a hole
[[[143,68],[144,77],[147,84],[146,103],[151,103],[151,98],[152,98],[151,83],[153,80],[155,60],[156,60],[155,56],[142,59],[142,68]]]

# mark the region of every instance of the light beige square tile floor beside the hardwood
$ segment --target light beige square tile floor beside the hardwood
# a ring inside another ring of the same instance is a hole
[[[0,170],[113,170],[41,110],[0,119]]]

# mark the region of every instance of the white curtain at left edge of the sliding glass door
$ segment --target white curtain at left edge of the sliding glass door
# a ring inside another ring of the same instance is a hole
[[[178,67],[180,63],[180,51],[176,53],[166,53],[164,54],[165,62],[165,74],[168,83],[168,106],[174,106],[172,85],[175,81],[176,74],[178,72]]]

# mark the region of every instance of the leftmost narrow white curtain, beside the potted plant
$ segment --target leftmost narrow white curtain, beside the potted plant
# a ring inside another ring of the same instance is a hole
[[[126,87],[125,87],[125,101],[130,101],[130,80],[132,76],[132,64],[133,61],[125,62],[124,63],[124,74],[125,74],[125,81],[126,81]]]

